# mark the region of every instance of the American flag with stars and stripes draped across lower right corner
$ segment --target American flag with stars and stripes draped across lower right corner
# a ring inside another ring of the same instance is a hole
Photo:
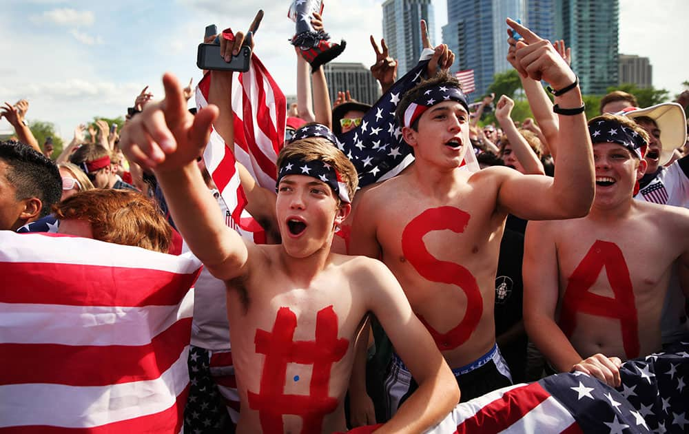
[[[551,375],[457,404],[426,433],[687,433],[689,335],[685,340],[622,364],[617,390],[584,373]]]

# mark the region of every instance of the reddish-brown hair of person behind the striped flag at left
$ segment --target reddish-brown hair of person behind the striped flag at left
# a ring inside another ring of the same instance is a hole
[[[96,240],[162,253],[169,250],[172,227],[152,200],[139,192],[90,189],[53,205],[52,210],[59,220],[90,223]]]

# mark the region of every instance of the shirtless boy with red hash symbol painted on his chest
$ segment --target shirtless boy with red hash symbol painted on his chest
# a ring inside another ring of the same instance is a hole
[[[344,154],[322,138],[280,152],[276,215],[283,242],[254,245],[225,225],[195,162],[218,109],[209,105],[194,117],[176,79],[166,74],[163,85],[165,99],[125,127],[121,146],[132,161],[152,167],[189,247],[227,282],[238,432],[345,431],[354,334],[368,311],[420,380],[380,432],[420,432],[441,420],[459,391],[398,282],[380,262],[330,253],[356,190]]]

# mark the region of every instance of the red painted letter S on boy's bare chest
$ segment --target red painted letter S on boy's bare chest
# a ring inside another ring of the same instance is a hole
[[[476,283],[476,278],[455,262],[436,259],[424,245],[424,235],[431,231],[450,229],[461,234],[466,229],[471,216],[454,207],[426,209],[416,216],[402,233],[402,252],[414,269],[431,282],[457,285],[466,294],[466,313],[457,326],[446,333],[440,333],[421,316],[419,319],[426,326],[440,351],[451,350],[469,340],[476,329],[483,313],[483,298]]]

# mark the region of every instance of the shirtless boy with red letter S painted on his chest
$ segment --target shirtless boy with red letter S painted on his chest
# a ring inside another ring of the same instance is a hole
[[[522,175],[506,167],[460,169],[469,145],[469,110],[457,81],[438,76],[405,94],[397,118],[415,163],[360,199],[351,251],[382,258],[458,375],[462,399],[511,384],[495,346],[495,273],[507,214],[527,220],[588,213],[593,200],[593,157],[576,76],[552,45],[508,20],[524,41],[520,73],[544,79],[560,109],[561,152],[555,178]],[[536,199],[537,200],[533,200]],[[396,349],[396,347],[395,347]],[[391,413],[413,389],[395,360],[389,378]],[[400,393],[401,389],[401,393]],[[394,390],[394,391],[392,391]],[[400,396],[402,395],[402,396]]]

